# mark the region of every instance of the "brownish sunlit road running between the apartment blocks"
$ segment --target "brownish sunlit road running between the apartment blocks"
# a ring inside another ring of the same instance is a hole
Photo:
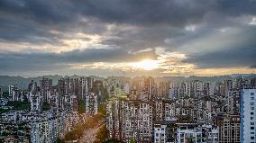
[[[96,140],[97,131],[105,126],[104,121],[99,121],[96,128],[84,130],[84,135],[81,139],[78,139],[78,143],[93,143]]]

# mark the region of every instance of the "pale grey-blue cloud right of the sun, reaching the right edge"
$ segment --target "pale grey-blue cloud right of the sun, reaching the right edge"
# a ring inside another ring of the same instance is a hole
[[[181,49],[186,51],[183,62],[197,68],[251,67],[256,62],[256,34],[254,27],[214,31],[204,38],[188,41]]]

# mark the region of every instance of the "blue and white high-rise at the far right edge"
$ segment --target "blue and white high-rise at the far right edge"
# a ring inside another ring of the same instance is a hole
[[[256,142],[256,89],[243,89],[240,105],[240,141]]]

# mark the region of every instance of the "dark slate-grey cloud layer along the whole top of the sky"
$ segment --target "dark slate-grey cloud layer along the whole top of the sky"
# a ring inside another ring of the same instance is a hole
[[[44,39],[52,39],[56,35],[47,33],[47,30],[51,28],[59,29],[59,31],[69,31],[69,29],[76,28],[83,30],[83,25],[87,22],[79,23],[81,17],[97,18],[102,22],[124,22],[142,26],[157,24],[183,28],[187,23],[202,22],[207,13],[215,13],[216,19],[224,18],[224,15],[237,16],[255,13],[255,1],[236,0],[235,2],[204,0],[1,0],[0,31],[1,33],[5,30],[12,31],[9,31],[9,35],[0,35],[0,38],[30,41],[29,38],[36,35]],[[30,29],[30,31],[27,33],[25,32],[26,29]],[[13,38],[11,38],[12,36]],[[41,40],[47,42],[47,40]]]

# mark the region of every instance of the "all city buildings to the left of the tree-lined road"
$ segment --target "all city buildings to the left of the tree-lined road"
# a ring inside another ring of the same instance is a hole
[[[43,77],[39,84],[32,81],[27,90],[9,85],[9,98],[1,100],[1,108],[10,110],[0,115],[0,133],[5,135],[2,141],[53,143],[78,126],[84,116],[97,114],[100,92],[93,89],[97,87],[93,78],[66,77],[60,78],[57,85],[52,83],[52,79]],[[29,108],[12,110],[8,100],[29,103]],[[78,101],[85,104],[83,116],[78,114]]]

